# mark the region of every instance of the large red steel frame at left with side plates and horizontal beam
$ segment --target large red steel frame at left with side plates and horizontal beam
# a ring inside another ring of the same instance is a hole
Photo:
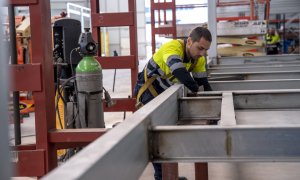
[[[86,146],[106,130],[56,130],[50,1],[11,0],[8,5],[29,6],[32,64],[8,65],[8,72],[10,91],[33,91],[36,132],[35,144],[11,147],[13,176],[41,177],[57,166],[57,149]]]

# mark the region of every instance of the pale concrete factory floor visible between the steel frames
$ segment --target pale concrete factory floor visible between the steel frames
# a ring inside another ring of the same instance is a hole
[[[147,61],[140,61],[140,69]],[[113,88],[114,70],[103,72],[104,87],[113,98],[128,97],[131,94],[130,71],[117,70],[115,87]],[[112,91],[114,89],[114,92]],[[116,122],[122,122],[124,117],[128,118],[131,112],[105,113],[105,124],[107,128]],[[21,125],[22,144],[35,143],[34,113],[25,118]],[[9,127],[10,142],[14,143],[13,125]],[[209,180],[299,180],[300,163],[209,163]],[[153,180],[153,167],[151,163],[146,167],[139,180]],[[192,163],[179,163],[179,175],[188,180],[194,178],[194,166]],[[31,177],[15,177],[13,180],[32,180]]]

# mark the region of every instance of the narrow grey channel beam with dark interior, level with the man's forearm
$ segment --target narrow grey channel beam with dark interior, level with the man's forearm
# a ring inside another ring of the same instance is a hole
[[[300,79],[300,71],[210,73],[209,81],[224,78],[230,80]]]

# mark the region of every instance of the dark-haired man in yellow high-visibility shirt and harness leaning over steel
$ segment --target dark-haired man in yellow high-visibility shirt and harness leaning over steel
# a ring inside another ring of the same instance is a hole
[[[182,83],[194,93],[199,86],[203,86],[205,91],[212,91],[207,80],[205,58],[211,41],[209,30],[197,27],[187,39],[171,40],[163,44],[138,74],[134,88],[137,108],[147,104],[174,83]],[[153,163],[153,166],[155,180],[161,180],[161,164]]]

